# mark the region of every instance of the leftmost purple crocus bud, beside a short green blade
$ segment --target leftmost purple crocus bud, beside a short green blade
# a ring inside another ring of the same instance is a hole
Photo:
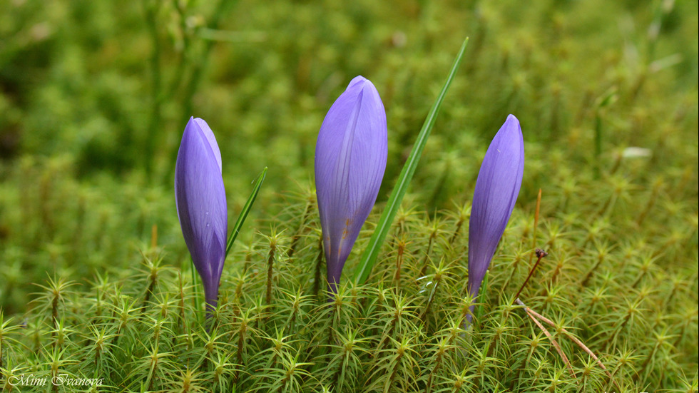
[[[211,128],[190,118],[175,164],[175,204],[182,235],[201,276],[207,309],[218,302],[225,259],[228,213],[221,177],[221,152]]]

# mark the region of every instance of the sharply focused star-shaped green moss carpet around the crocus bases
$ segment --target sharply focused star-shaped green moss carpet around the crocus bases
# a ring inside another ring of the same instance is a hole
[[[102,378],[98,390],[115,392],[578,392],[693,383],[695,288],[682,270],[658,268],[664,254],[649,254],[666,238],[625,247],[591,239],[628,230],[599,226],[613,209],[591,223],[541,220],[536,243],[551,245],[551,255],[521,299],[551,320],[544,332],[513,305],[533,265],[523,251],[534,235],[526,215],[514,216],[465,328],[471,300],[459,220],[467,208],[439,219],[403,209],[367,285],[344,282],[329,300],[317,283],[317,215],[296,214],[308,210],[305,195],[290,199],[271,235],[228,258],[210,320],[191,270],[172,267],[158,249],[145,250],[140,272],[127,279],[52,278],[37,287],[24,319],[2,320],[6,391],[21,374]]]

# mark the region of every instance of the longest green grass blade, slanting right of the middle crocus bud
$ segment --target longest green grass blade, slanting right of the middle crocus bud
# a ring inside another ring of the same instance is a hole
[[[439,108],[442,107],[444,96],[447,95],[447,90],[449,90],[451,81],[454,80],[456,71],[459,69],[459,64],[461,64],[461,58],[464,57],[464,51],[466,51],[466,44],[468,44],[468,42],[469,39],[466,38],[464,40],[464,44],[461,45],[461,49],[459,49],[459,53],[454,59],[454,64],[451,66],[451,71],[449,71],[447,81],[444,82],[442,91],[439,92],[437,100],[434,101],[432,108],[429,110],[429,113],[427,113],[427,118],[422,125],[422,130],[420,130],[420,133],[417,136],[417,141],[415,141],[415,145],[410,152],[407,162],[405,165],[403,165],[403,170],[401,170],[398,181],[396,182],[391,196],[388,199],[386,209],[379,219],[379,224],[377,225],[376,230],[374,230],[372,238],[369,240],[367,249],[364,250],[364,254],[362,254],[362,260],[359,261],[359,266],[357,266],[357,269],[354,270],[354,281],[359,284],[364,283],[369,277],[369,273],[372,271],[377,255],[379,255],[379,249],[384,243],[384,239],[388,234],[389,228],[391,228],[393,218],[396,216],[400,203],[403,200],[403,196],[405,195],[408,185],[410,184],[410,180],[412,180],[412,176],[415,173],[415,168],[417,168],[417,164],[420,161],[420,155],[422,155],[422,150],[427,143],[429,133],[432,132],[432,127],[434,126],[434,121],[439,113]]]

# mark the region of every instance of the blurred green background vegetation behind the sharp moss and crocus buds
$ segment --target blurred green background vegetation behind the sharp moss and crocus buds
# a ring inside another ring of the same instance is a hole
[[[660,181],[696,238],[696,1],[0,0],[0,10],[7,313],[54,272],[132,275],[152,225],[166,260],[185,261],[172,183],[190,116],[218,138],[229,222],[269,167],[244,243],[312,187],[325,112],[365,76],[389,127],[380,205],[466,36],[409,200],[437,214],[469,200],[514,113],[526,141],[520,210],[539,188],[549,216],[575,212],[566,198],[578,193],[606,200],[594,179],[624,165],[624,198]],[[632,146],[650,156],[627,163]],[[651,235],[676,228],[665,222]]]

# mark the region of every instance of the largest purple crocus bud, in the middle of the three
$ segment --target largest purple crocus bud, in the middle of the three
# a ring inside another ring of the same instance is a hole
[[[315,188],[332,293],[376,202],[387,155],[384,104],[374,85],[357,76],[327,111],[315,146]]]

